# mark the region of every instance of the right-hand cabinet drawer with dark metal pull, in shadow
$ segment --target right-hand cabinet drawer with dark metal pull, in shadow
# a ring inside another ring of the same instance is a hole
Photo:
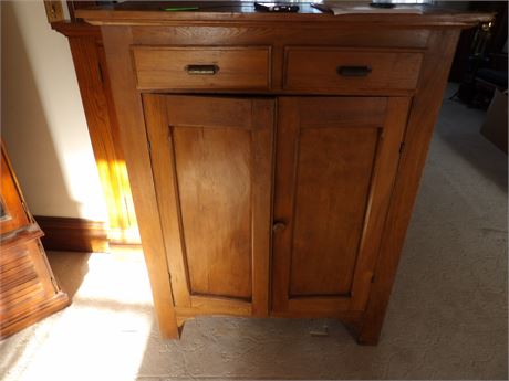
[[[423,54],[416,51],[287,47],[284,88],[319,92],[412,91]]]

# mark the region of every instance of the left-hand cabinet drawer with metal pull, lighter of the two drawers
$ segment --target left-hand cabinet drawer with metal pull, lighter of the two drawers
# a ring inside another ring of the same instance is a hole
[[[270,47],[133,49],[138,89],[267,89]]]

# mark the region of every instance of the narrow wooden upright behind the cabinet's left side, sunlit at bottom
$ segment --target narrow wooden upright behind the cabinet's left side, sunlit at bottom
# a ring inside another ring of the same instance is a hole
[[[138,243],[136,216],[111,95],[104,49],[96,36],[69,38],[95,162],[107,205],[111,239]]]

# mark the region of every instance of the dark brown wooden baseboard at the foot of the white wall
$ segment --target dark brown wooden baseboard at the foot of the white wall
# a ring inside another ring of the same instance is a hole
[[[84,219],[34,215],[44,232],[45,250],[72,252],[107,252],[107,229],[104,222]]]

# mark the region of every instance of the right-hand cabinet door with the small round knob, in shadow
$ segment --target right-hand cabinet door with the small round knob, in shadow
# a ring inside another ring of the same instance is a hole
[[[409,98],[282,97],[272,311],[365,308]]]

